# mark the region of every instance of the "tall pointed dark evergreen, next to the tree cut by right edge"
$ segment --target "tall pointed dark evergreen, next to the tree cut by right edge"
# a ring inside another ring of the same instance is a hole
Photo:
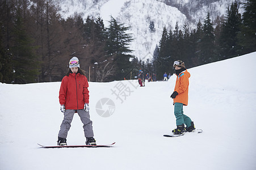
[[[220,54],[222,59],[235,57],[241,54],[238,44],[238,33],[241,31],[241,15],[238,13],[237,2],[228,7],[227,16],[220,35]]]

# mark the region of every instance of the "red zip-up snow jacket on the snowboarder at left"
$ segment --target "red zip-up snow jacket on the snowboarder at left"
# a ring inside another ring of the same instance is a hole
[[[89,103],[88,81],[86,76],[70,73],[61,81],[58,99],[66,109],[83,109]]]

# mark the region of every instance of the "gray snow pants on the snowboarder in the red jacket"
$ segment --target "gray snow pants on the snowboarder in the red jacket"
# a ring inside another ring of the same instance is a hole
[[[64,119],[60,125],[60,131],[58,132],[58,137],[66,138],[68,136],[68,131],[71,127],[71,122],[73,120],[75,110],[67,109],[64,112]],[[91,138],[94,136],[93,134],[93,122],[90,120],[89,112],[85,112],[85,110],[80,109],[77,110],[77,113],[83,123],[83,131],[85,132],[86,138]]]

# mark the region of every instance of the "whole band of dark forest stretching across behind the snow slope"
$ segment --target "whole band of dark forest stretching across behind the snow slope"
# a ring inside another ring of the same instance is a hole
[[[62,18],[52,0],[0,1],[0,82],[61,81],[73,56],[90,81],[109,82],[134,78],[139,69],[161,80],[163,73],[173,73],[176,59],[190,68],[254,52],[256,3],[244,7],[239,14],[234,2],[225,16],[212,21],[208,14],[196,29],[178,23],[174,30],[164,28],[153,61],[143,62],[131,55],[129,27],[115,18],[105,27],[100,17]]]

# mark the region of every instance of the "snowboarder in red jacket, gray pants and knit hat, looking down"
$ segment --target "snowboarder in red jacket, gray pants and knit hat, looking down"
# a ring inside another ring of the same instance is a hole
[[[80,69],[79,59],[73,57],[69,61],[69,71],[61,81],[59,100],[61,112],[64,113],[64,120],[61,123],[58,133],[58,145],[66,144],[66,137],[73,120],[74,113],[77,112],[82,123],[86,137],[86,145],[96,145],[93,133],[93,122],[89,114],[89,84],[85,73]]]

